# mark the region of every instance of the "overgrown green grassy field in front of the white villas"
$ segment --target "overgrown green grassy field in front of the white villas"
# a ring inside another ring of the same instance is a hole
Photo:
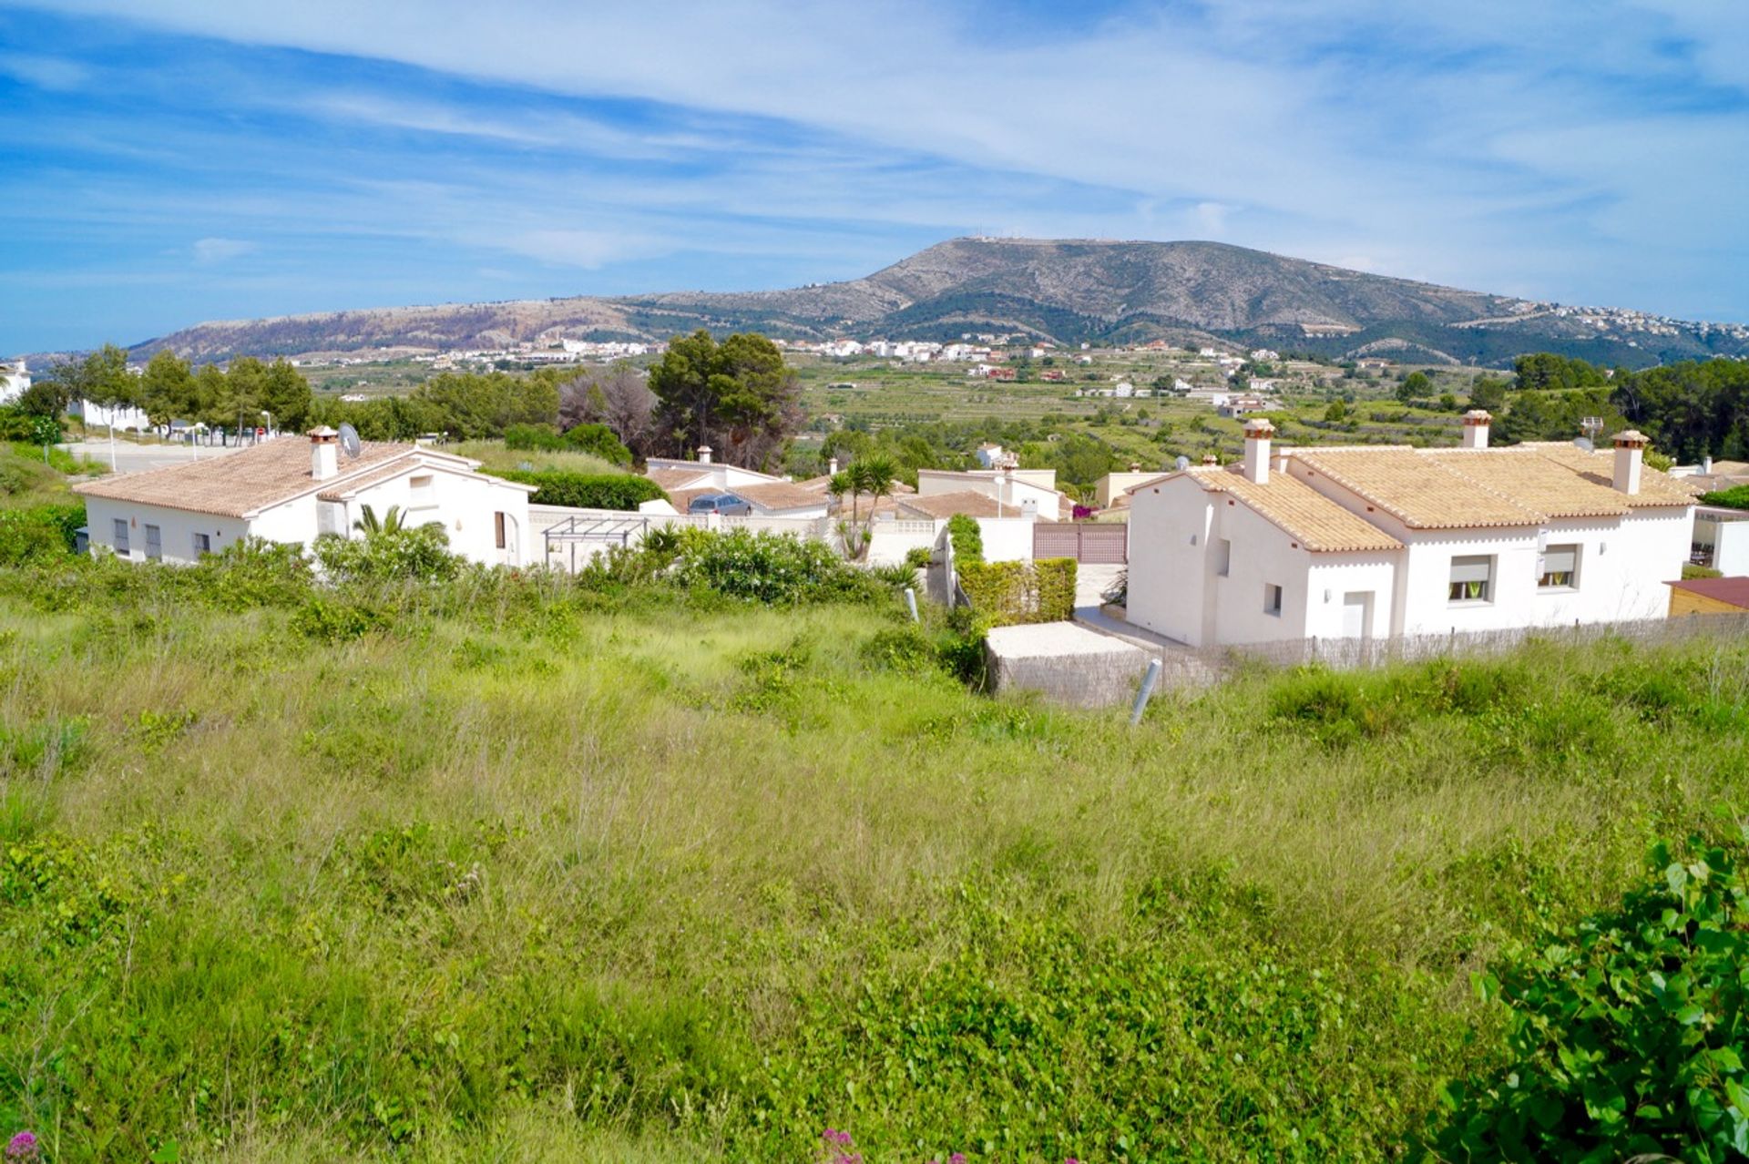
[[[888,605],[500,575],[332,641],[194,570],[0,572],[0,1134],[52,1161],[1397,1159],[1499,1054],[1471,973],[1749,771],[1739,640],[1130,729]]]

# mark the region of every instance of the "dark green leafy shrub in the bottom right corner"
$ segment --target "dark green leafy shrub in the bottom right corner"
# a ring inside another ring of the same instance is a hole
[[[1448,1089],[1439,1159],[1749,1155],[1744,839],[1653,849],[1621,911],[1511,949],[1478,989],[1506,1005],[1508,1063]]]

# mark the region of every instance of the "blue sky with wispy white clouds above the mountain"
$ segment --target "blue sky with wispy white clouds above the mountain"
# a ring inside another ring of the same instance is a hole
[[[0,0],[0,353],[1212,238],[1749,320],[1737,0]]]

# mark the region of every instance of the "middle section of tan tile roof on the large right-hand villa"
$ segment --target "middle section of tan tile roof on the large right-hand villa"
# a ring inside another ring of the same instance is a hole
[[[1408,446],[1313,447],[1291,456],[1411,530],[1534,526],[1544,519],[1541,510]]]

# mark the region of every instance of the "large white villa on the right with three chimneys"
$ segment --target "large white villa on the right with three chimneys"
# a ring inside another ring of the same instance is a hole
[[[1662,619],[1695,498],[1644,465],[1572,444],[1310,447],[1130,489],[1128,619],[1193,647]]]

